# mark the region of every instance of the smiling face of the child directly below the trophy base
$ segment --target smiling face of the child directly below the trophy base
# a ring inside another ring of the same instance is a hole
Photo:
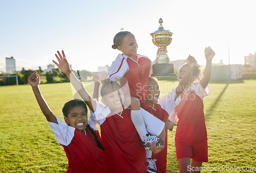
[[[148,83],[148,92],[147,92],[147,103],[154,103],[158,102],[158,98],[160,95],[159,84],[155,80],[150,80]]]

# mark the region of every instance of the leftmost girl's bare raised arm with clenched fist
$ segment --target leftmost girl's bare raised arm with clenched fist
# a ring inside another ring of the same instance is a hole
[[[41,95],[41,92],[39,90],[40,77],[37,74],[37,72],[34,72],[32,75],[29,76],[28,82],[32,87],[36,101],[40,106],[42,113],[45,115],[47,121],[54,122],[57,124],[58,122],[55,116],[53,115],[52,111],[50,110],[49,106],[47,105],[44,97]]]

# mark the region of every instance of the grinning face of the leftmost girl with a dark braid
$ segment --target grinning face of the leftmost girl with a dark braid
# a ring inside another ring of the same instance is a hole
[[[64,117],[65,122],[72,127],[78,129],[78,131],[84,133],[84,128],[86,128],[88,123],[87,112],[83,106],[73,107],[68,114],[68,118]]]

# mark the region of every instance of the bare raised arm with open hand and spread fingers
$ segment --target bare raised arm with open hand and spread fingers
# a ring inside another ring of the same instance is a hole
[[[53,62],[56,64],[56,66],[61,70],[61,72],[65,73],[70,82],[72,83],[73,87],[77,91],[77,93],[81,96],[81,98],[86,102],[89,109],[92,112],[95,112],[96,110],[96,102],[94,99],[89,95],[87,90],[83,87],[82,83],[76,78],[75,74],[70,70],[69,63],[66,59],[64,51],[62,51],[62,55],[57,51],[58,55],[55,54],[57,60],[59,63],[53,60]]]

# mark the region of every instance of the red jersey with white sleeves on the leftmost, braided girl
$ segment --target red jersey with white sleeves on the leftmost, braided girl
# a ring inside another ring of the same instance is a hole
[[[56,116],[55,116],[56,117]],[[95,137],[85,129],[86,135],[68,126],[56,117],[58,124],[48,122],[56,140],[63,146],[69,164],[67,172],[106,172],[103,151],[97,146]],[[100,140],[99,133],[96,132]]]

